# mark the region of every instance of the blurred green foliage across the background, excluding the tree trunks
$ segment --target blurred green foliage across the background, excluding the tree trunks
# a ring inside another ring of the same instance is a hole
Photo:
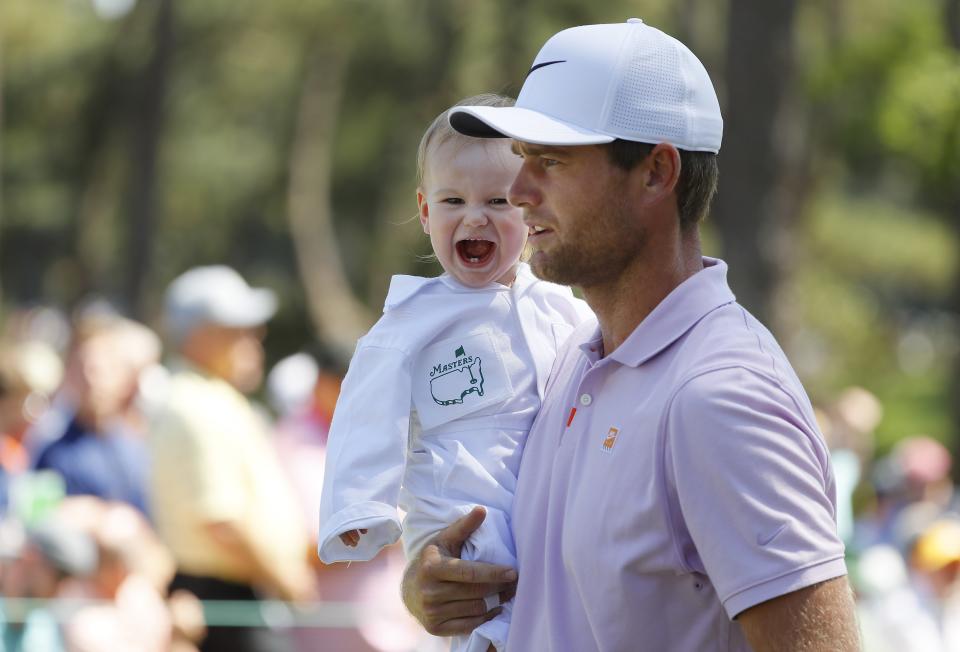
[[[418,258],[429,248],[408,218],[420,134],[446,106],[516,93],[543,40],[577,23],[635,15],[680,33],[712,71],[725,60],[726,4],[707,0],[173,2],[147,293],[155,306],[186,267],[237,266],[284,299],[274,357],[311,338],[286,192],[315,57],[343,63],[331,81],[340,101],[330,201],[352,289],[374,308],[390,274],[436,270]],[[122,287],[137,81],[157,5],[140,0],[105,20],[89,0],[0,4],[8,302],[66,306]],[[796,101],[813,156],[809,204],[792,225],[797,264],[777,299],[784,339],[818,400],[849,384],[877,392],[884,446],[912,432],[950,435],[955,348],[937,324],[956,310],[960,283],[960,55],[941,11],[939,0],[798,7]],[[911,358],[914,335],[930,342],[931,361]]]

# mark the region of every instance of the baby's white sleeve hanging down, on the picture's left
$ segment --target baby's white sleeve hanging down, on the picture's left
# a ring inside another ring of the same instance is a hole
[[[324,563],[366,561],[400,536],[397,502],[410,428],[410,362],[361,343],[343,381],[327,443],[318,552]],[[339,535],[366,529],[360,543]]]

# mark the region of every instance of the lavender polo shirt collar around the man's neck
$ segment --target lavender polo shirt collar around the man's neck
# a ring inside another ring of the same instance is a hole
[[[703,269],[674,288],[609,357],[620,364],[639,367],[708,313],[734,301],[727,285],[727,264],[704,256]]]

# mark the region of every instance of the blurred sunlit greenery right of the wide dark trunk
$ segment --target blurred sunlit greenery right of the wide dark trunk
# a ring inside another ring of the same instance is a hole
[[[806,12],[801,32],[819,172],[808,233],[820,235],[805,261],[835,291],[807,286],[821,293],[818,309],[795,291],[795,321],[808,343],[820,342],[819,357],[836,357],[825,365],[833,371],[813,375],[821,394],[860,382],[883,400],[881,450],[916,432],[948,440],[960,432],[948,391],[958,345],[950,297],[960,284],[960,58],[947,45],[941,0],[839,9]]]

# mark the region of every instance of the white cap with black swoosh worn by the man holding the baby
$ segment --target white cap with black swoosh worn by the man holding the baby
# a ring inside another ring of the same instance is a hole
[[[468,136],[540,145],[615,139],[718,152],[720,103],[687,46],[639,18],[581,25],[540,50],[513,107],[460,106],[450,125]]]

